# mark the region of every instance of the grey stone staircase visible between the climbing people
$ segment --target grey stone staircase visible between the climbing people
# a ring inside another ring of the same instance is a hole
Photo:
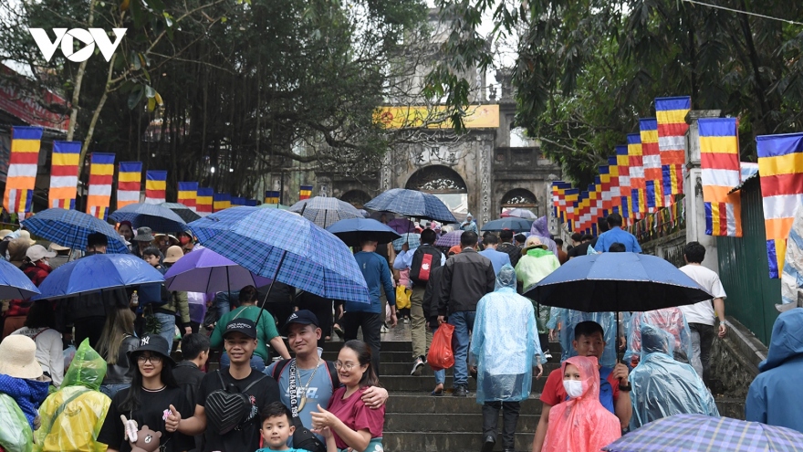
[[[467,397],[454,397],[451,394],[452,370],[449,369],[446,371],[444,385],[449,393],[437,397],[430,395],[435,386],[432,369],[425,365],[420,375],[410,375],[412,345],[409,339],[388,341],[390,338],[387,336],[386,341],[382,342],[380,356],[380,382],[391,394],[385,411],[383,440],[385,450],[387,452],[480,450],[483,441],[483,416],[481,406],[476,403],[474,392],[476,381],[469,378]],[[328,342],[324,348],[324,358],[336,361],[341,345],[342,342]],[[557,343],[551,345],[558,347],[559,350]],[[556,357],[559,356],[559,352],[555,349],[552,353]],[[541,413],[541,403],[537,398],[547,381],[547,373],[557,368],[557,358],[554,363],[547,363],[544,366],[544,376],[533,380],[530,399],[521,404],[521,415],[516,428],[517,451],[532,449],[533,436]],[[501,433],[501,415],[498,425]],[[496,440],[495,450],[502,450],[501,435]]]

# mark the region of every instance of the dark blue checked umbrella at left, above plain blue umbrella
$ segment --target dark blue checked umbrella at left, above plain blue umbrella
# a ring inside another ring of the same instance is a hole
[[[122,237],[109,223],[77,210],[58,208],[43,210],[22,220],[22,226],[25,226],[31,234],[47,238],[57,245],[81,250],[87,249],[89,234],[99,232],[109,238],[106,252],[129,253],[129,248],[126,247]]]

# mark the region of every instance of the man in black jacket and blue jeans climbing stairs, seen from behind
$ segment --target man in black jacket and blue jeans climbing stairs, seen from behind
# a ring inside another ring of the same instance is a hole
[[[468,395],[468,342],[474,328],[476,305],[494,291],[496,274],[491,260],[474,250],[477,235],[466,231],[460,237],[463,251],[446,261],[438,296],[438,322],[454,325],[454,394]]]

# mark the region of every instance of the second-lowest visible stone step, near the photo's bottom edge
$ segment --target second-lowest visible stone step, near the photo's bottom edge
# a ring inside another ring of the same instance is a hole
[[[405,413],[385,413],[385,432],[454,432],[454,433],[474,433],[479,434],[483,431],[482,407],[474,404],[474,414],[449,414],[449,415],[422,415]],[[471,412],[468,412],[471,413]],[[519,415],[516,431],[534,432],[538,426],[539,415]],[[497,428],[502,427],[501,415]],[[409,449],[408,449],[409,450]]]

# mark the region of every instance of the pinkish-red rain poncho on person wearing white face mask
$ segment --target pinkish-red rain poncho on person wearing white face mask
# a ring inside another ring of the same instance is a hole
[[[621,436],[619,418],[600,404],[600,371],[597,358],[574,356],[561,364],[578,367],[583,394],[553,406],[542,452],[598,452]]]

